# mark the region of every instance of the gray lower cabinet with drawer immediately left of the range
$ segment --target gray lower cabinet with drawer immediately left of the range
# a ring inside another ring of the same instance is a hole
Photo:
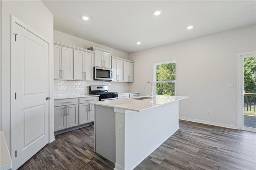
[[[99,101],[99,97],[79,98],[79,125],[94,121],[94,105],[89,103]]]

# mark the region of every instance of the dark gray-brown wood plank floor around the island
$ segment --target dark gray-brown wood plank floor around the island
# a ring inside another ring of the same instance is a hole
[[[94,152],[94,126],[55,136],[20,170],[108,170]],[[256,133],[180,121],[180,129],[135,170],[256,170]]]

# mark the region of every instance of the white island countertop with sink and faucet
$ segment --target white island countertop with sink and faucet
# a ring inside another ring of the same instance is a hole
[[[140,96],[141,97],[141,96]],[[144,96],[148,97],[148,96]],[[138,97],[134,97],[138,98]],[[153,107],[159,107],[167,103],[179,101],[182,99],[186,99],[186,96],[162,96],[156,95],[153,99],[144,99],[144,100],[136,100],[136,99],[117,99],[117,100],[106,100],[106,101],[97,101],[91,102],[95,105],[101,105],[106,107],[113,107],[118,109],[126,109],[130,111],[144,111],[146,109],[151,109]]]

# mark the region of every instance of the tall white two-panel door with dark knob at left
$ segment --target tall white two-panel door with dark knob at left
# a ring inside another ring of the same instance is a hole
[[[14,22],[11,43],[11,155],[16,169],[49,141],[49,44]]]

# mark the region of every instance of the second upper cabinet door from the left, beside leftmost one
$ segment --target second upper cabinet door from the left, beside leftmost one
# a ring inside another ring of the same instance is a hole
[[[73,79],[73,49],[62,47],[62,78]]]

